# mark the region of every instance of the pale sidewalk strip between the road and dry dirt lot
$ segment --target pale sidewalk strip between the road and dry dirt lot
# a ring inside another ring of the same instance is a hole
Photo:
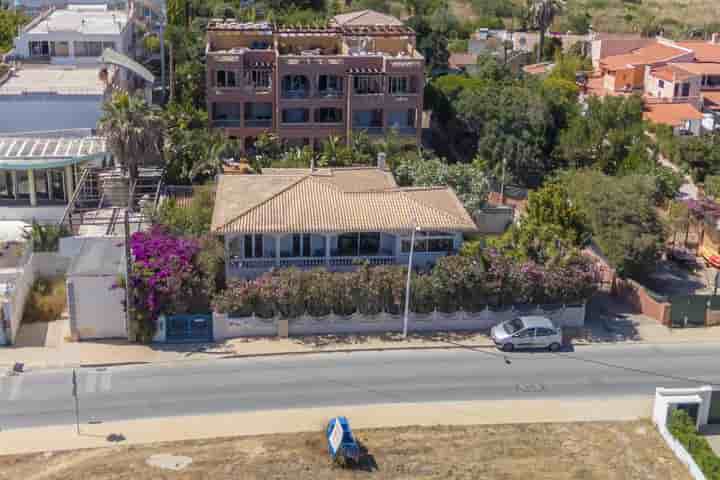
[[[223,415],[168,417],[146,420],[28,428],[0,432],[0,455],[76,450],[113,445],[274,433],[322,431],[329,418],[346,415],[354,429],[479,425],[508,423],[570,423],[623,421],[650,417],[651,397],[597,400],[495,400],[422,404],[381,404],[267,410]],[[124,437],[111,442],[108,435]]]

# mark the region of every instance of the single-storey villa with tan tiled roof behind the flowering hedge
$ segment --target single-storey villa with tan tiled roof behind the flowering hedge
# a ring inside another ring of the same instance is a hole
[[[232,279],[276,267],[407,264],[414,228],[415,266],[457,252],[463,233],[477,231],[452,189],[399,188],[374,167],[222,175],[211,231],[224,237]]]

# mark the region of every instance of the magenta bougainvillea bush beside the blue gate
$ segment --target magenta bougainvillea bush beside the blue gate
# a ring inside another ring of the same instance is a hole
[[[198,251],[196,241],[159,227],[130,237],[130,301],[143,339],[154,334],[158,316],[186,311],[202,288],[195,268]]]

